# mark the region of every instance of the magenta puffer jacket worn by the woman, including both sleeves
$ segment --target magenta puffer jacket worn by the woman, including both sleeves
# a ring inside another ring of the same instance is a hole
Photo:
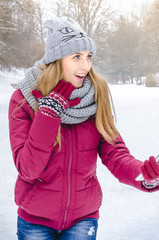
[[[10,101],[9,129],[18,170],[15,202],[18,214],[31,223],[67,229],[85,217],[98,218],[102,191],[96,176],[99,154],[103,164],[120,182],[147,191],[135,177],[142,162],[130,155],[119,136],[106,142],[95,119],[61,124],[61,151],[54,146],[59,118],[52,118],[25,102],[20,90]]]

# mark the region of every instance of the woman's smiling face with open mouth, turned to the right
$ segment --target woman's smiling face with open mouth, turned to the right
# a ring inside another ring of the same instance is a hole
[[[75,88],[83,85],[83,80],[91,69],[92,52],[77,52],[62,59],[63,80]]]

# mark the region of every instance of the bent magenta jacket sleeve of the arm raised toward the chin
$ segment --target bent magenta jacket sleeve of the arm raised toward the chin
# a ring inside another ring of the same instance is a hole
[[[49,162],[61,120],[40,111],[32,118],[31,107],[20,94],[20,90],[14,92],[9,104],[10,143],[21,178],[34,181]]]

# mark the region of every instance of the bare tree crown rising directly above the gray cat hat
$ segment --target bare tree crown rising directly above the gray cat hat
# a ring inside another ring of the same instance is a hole
[[[75,19],[91,37],[99,34],[103,24],[108,27],[112,17],[112,10],[104,0],[60,0],[57,2],[57,12],[59,16]]]

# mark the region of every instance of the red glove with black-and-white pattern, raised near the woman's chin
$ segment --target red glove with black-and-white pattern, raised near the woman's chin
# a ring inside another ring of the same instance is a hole
[[[42,113],[51,117],[59,117],[65,109],[80,103],[80,98],[69,100],[74,89],[75,87],[71,83],[61,80],[46,97],[43,97],[38,90],[33,90],[32,94],[38,100],[39,110]]]

